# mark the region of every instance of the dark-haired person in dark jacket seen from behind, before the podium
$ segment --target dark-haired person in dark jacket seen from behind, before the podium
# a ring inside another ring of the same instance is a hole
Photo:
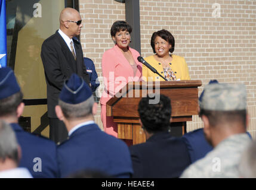
[[[190,158],[181,138],[169,134],[171,101],[162,94],[158,103],[149,101],[149,96],[143,97],[138,105],[146,143],[129,147],[134,169],[132,178],[178,178],[189,166]]]

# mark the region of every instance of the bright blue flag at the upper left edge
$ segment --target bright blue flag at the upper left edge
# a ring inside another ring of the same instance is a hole
[[[0,68],[7,65],[5,0],[0,0]]]

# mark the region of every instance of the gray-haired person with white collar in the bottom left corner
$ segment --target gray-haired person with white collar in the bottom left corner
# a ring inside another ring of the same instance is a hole
[[[0,178],[32,178],[29,170],[18,167],[20,154],[13,129],[0,120]]]

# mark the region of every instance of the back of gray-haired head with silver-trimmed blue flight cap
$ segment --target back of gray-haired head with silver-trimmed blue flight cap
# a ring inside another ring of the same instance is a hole
[[[92,114],[94,105],[91,88],[81,77],[72,74],[64,82],[58,105],[66,119],[86,118]]]

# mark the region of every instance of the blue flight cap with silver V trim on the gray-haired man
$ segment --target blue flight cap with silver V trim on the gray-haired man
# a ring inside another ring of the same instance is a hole
[[[60,92],[60,100],[72,105],[84,102],[91,96],[92,91],[89,85],[76,74],[72,74],[69,80],[64,81]]]

